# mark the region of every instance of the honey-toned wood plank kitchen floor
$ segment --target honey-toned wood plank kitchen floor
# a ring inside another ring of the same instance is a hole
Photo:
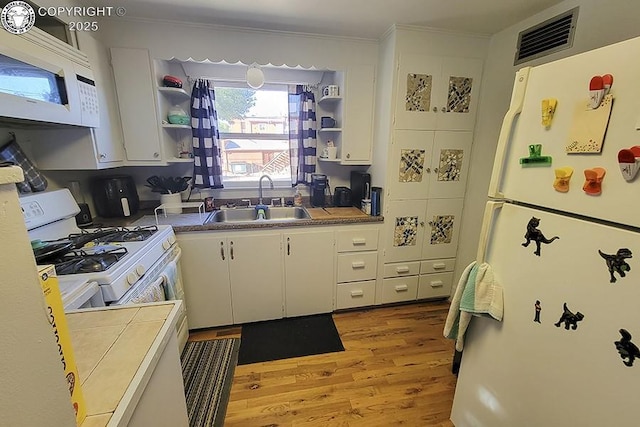
[[[237,366],[225,426],[452,427],[453,342],[442,336],[448,309],[439,301],[334,313],[345,351]]]

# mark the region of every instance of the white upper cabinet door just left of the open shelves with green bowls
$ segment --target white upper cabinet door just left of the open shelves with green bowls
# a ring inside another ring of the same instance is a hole
[[[111,48],[127,164],[163,162],[155,87],[147,49]]]

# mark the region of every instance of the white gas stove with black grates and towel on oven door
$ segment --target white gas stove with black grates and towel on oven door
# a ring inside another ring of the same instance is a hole
[[[176,325],[182,351],[189,327],[171,226],[81,230],[80,208],[67,189],[23,196],[20,206],[36,261],[56,267],[65,310],[183,300]]]

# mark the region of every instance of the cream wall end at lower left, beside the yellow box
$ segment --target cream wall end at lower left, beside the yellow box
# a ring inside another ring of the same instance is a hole
[[[75,417],[16,187],[0,170],[0,424],[71,426]],[[11,243],[8,243],[11,242]]]

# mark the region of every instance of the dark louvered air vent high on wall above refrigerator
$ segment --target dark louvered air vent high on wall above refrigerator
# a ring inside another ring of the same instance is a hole
[[[577,20],[576,7],[520,32],[513,65],[570,48],[573,45]]]

